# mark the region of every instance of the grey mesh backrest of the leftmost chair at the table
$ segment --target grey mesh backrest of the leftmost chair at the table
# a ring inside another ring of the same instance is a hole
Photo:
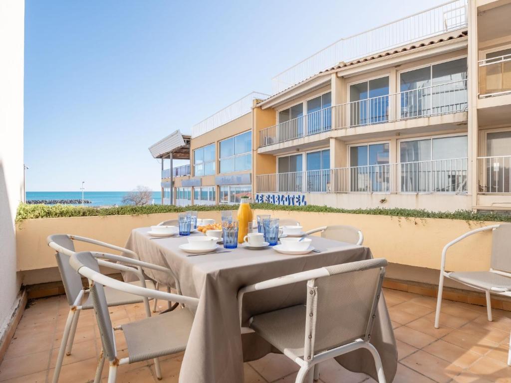
[[[48,244],[55,243],[64,249],[75,252],[73,240],[67,234],[53,234],[48,237]],[[82,278],[71,266],[69,266],[69,256],[57,251],[55,254],[57,265],[59,267],[60,277],[64,284],[65,295],[69,306],[75,304],[76,298],[83,290]]]

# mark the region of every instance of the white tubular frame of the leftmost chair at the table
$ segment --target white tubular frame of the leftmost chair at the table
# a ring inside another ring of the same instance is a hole
[[[122,256],[122,255],[97,252],[97,251],[90,252],[95,258],[97,258],[98,264],[100,266],[107,267],[109,269],[113,269],[113,270],[117,270],[117,271],[124,271],[127,273],[134,274],[138,278],[138,280],[141,282],[141,285],[143,286],[143,288],[146,288],[146,278],[142,271],[143,267],[147,268],[147,269],[152,269],[152,270],[161,271],[161,272],[170,274],[170,276],[173,277],[174,280],[176,281],[176,288],[177,288],[178,294],[181,294],[180,288],[179,288],[179,282],[177,282],[177,278],[175,277],[172,270],[167,269],[162,266],[153,265],[148,262],[141,261],[138,258],[138,255],[134,251],[131,251],[131,250],[119,247],[119,246],[111,245],[111,244],[97,241],[97,240],[92,240],[91,238],[82,237],[82,236],[78,236],[78,235],[71,235],[71,234],[65,234],[65,235],[67,235],[67,237],[72,241],[80,241],[80,242],[90,243],[90,244],[102,246],[102,247],[105,247],[108,249],[121,251],[121,252],[130,254],[133,258],[128,258],[128,257]],[[48,241],[48,246],[50,246],[57,253],[62,253],[64,255],[67,255],[69,258],[71,258],[75,254],[74,251],[69,250],[65,247],[62,247],[59,244],[57,244],[56,242],[54,242],[52,240],[52,235],[48,236],[47,241]],[[108,261],[107,259],[110,261]],[[123,264],[128,264],[128,265],[132,265],[132,266],[126,266],[126,265],[114,263],[111,261],[123,262]],[[148,290],[151,290],[151,289],[148,289]],[[69,306],[69,314],[67,315],[67,320],[66,320],[66,323],[64,326],[64,333],[62,336],[62,341],[60,343],[59,353],[57,356],[57,362],[55,364],[55,371],[54,371],[53,380],[52,380],[53,383],[58,382],[60,371],[62,369],[62,363],[64,361],[64,351],[65,351],[66,355],[71,355],[71,352],[73,349],[73,343],[75,340],[76,328],[78,327],[78,319],[80,317],[81,310],[91,309],[91,308],[83,308],[82,307],[82,300],[83,300],[85,293],[89,293],[89,289],[83,289],[82,291],[80,291],[80,293],[77,296],[77,298],[75,299],[75,302],[73,303],[73,305]],[[143,301],[144,301],[144,306],[145,306],[145,310],[146,310],[146,316],[149,318],[149,317],[151,317],[151,309],[149,306],[149,300],[147,297],[143,297]],[[170,301],[169,301],[169,306],[170,306]],[[176,305],[173,306],[173,308],[175,308],[175,307],[176,307]],[[157,360],[155,360],[155,366],[157,366],[157,374],[158,374],[159,362]],[[160,375],[158,375],[158,376],[160,376]]]

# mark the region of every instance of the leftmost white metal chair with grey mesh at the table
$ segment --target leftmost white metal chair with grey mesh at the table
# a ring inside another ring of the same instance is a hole
[[[48,245],[56,251],[55,256],[57,258],[57,265],[59,267],[60,275],[62,277],[62,283],[64,284],[67,303],[69,304],[69,314],[67,316],[67,321],[64,326],[64,334],[62,336],[62,341],[60,343],[60,349],[57,356],[57,362],[55,365],[55,371],[53,375],[53,383],[57,383],[60,375],[60,370],[62,368],[62,362],[64,359],[64,351],[66,355],[71,355],[80,312],[81,310],[89,310],[94,308],[94,305],[92,304],[92,297],[90,295],[88,295],[85,302],[83,302],[84,295],[85,293],[88,293],[88,290],[84,290],[80,276],[71,268],[71,266],[69,266],[69,258],[75,254],[75,245],[73,241],[81,241],[90,244],[95,244],[105,248],[109,248],[116,251],[122,251],[124,253],[130,254],[133,258],[128,258],[121,255],[109,253],[92,252],[94,256],[100,258],[98,259],[98,264],[100,266],[135,275],[138,280],[135,282],[130,282],[130,284],[132,285],[142,286],[144,288],[149,286],[151,289],[154,289],[153,281],[145,279],[142,268],[148,268],[168,273],[171,275],[172,278],[174,278],[176,283],[177,278],[175,278],[172,271],[167,268],[138,260],[137,254],[128,249],[92,240],[91,238],[70,234],[54,234],[48,236],[47,241]],[[123,262],[123,264],[128,264],[132,266],[121,265],[114,262]],[[178,292],[180,292],[179,284],[177,284],[177,288]],[[146,315],[148,317],[151,316],[149,301],[146,297],[122,293],[112,289],[106,289],[105,293],[107,294],[108,306],[144,303],[146,308]],[[155,363],[158,362],[156,361]]]

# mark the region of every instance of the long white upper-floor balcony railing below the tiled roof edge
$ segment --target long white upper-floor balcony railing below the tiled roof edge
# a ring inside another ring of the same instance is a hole
[[[456,113],[467,108],[467,80],[460,80],[324,108],[261,130],[259,142],[264,147],[331,129]]]

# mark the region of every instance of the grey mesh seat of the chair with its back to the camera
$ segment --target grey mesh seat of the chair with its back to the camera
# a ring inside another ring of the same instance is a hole
[[[254,315],[250,327],[292,360],[304,356],[305,305]]]

